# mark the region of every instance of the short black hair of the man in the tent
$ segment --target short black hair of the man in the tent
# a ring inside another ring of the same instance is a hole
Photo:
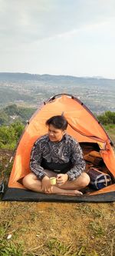
[[[46,125],[53,125],[54,128],[64,131],[67,128],[67,120],[63,115],[54,115],[46,121]]]

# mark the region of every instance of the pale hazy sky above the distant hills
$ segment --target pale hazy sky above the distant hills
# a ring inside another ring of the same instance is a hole
[[[0,71],[115,78],[115,0],[0,0]]]

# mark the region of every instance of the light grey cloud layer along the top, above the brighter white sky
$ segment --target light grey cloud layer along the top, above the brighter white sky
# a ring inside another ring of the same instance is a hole
[[[112,0],[1,0],[0,35],[16,42],[34,42],[74,33],[114,15]]]

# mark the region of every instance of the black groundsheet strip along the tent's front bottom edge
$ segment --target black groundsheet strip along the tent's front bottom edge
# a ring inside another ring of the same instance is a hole
[[[59,202],[111,202],[115,201],[115,191],[104,194],[83,194],[68,196],[62,194],[43,194],[21,188],[8,188],[2,201],[59,201]]]

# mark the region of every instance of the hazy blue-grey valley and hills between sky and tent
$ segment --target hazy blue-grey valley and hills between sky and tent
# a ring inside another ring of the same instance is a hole
[[[0,108],[16,104],[38,108],[51,96],[67,93],[91,111],[115,111],[115,79],[0,72]]]

